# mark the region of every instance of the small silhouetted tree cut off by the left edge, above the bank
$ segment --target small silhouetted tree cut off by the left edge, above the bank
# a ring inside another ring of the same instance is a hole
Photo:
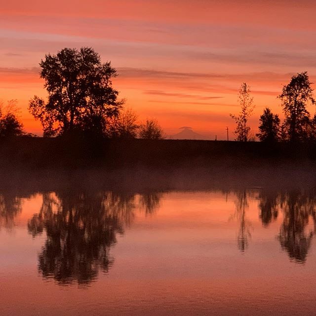
[[[6,108],[0,106],[0,137],[25,135],[23,124],[17,116],[16,103],[16,100],[10,100]]]

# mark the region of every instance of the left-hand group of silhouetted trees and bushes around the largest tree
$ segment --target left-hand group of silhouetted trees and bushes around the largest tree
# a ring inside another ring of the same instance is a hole
[[[125,100],[118,99],[112,85],[115,68],[110,62],[102,63],[92,48],[64,48],[56,55],[46,54],[40,68],[47,101],[34,96],[29,112],[40,120],[44,137],[163,138],[156,119],[139,122],[136,113],[124,107]],[[0,111],[0,136],[30,135],[11,104],[16,101],[8,103],[4,115]]]

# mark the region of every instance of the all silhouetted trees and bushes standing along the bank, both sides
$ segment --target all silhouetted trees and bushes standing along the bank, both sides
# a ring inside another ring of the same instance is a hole
[[[107,138],[161,139],[164,134],[156,119],[139,122],[136,113],[124,107],[112,85],[117,76],[111,62],[103,63],[93,48],[63,48],[56,55],[46,54],[40,62],[47,101],[34,96],[29,112],[40,120],[44,137],[87,135]],[[260,116],[259,133],[253,135],[249,118],[254,110],[247,83],[242,83],[238,100],[240,112],[230,114],[236,122],[236,140],[247,142],[256,137],[263,142],[316,141],[316,115],[311,118],[309,103],[315,104],[307,72],[293,76],[277,97],[284,121],[266,107]],[[17,101],[0,103],[0,137],[35,136],[26,133],[18,116]]]

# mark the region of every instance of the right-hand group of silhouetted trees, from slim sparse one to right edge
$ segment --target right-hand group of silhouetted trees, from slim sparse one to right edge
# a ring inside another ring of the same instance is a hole
[[[283,86],[277,98],[281,101],[284,121],[281,124],[278,115],[266,107],[260,116],[259,133],[256,134],[260,141],[270,143],[316,141],[316,114],[311,118],[307,110],[309,104],[315,104],[311,85],[307,72],[303,72],[293,76],[290,82]],[[254,140],[248,120],[255,106],[247,83],[241,84],[238,99],[241,110],[238,115],[230,115],[237,125],[236,140],[241,142]]]

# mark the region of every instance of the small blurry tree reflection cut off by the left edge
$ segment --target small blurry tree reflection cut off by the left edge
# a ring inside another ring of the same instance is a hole
[[[21,198],[12,191],[0,193],[0,227],[12,229],[16,216],[21,212]]]

